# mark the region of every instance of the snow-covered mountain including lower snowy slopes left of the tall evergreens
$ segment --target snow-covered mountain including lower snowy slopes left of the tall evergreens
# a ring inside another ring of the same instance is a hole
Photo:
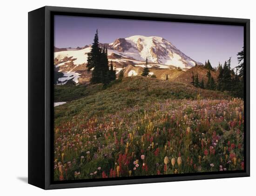
[[[195,66],[195,63],[202,65],[161,37],[135,35],[115,39],[110,44],[100,44],[102,47],[103,45],[108,48],[108,59],[113,61],[117,74],[122,67],[129,70],[128,73],[125,72],[127,76],[140,74],[146,58],[148,58],[151,74],[161,72],[159,69],[170,70],[180,67],[185,71]],[[86,64],[91,46],[61,49],[54,47],[54,51],[55,71],[58,72],[55,74],[58,76],[57,83],[65,84],[70,80],[81,84],[89,82],[90,72],[87,72]]]

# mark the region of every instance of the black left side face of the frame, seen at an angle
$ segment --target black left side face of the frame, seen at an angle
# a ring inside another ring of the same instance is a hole
[[[42,189],[45,188],[44,22],[44,7],[28,13],[28,183]]]

